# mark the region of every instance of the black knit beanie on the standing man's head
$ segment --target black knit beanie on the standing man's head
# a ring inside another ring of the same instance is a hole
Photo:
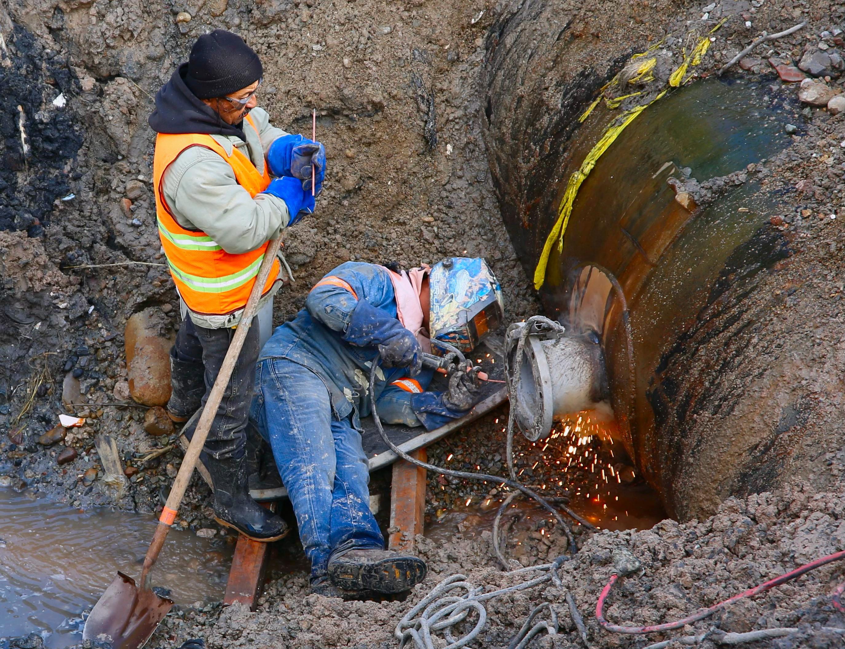
[[[201,35],[191,48],[185,85],[199,99],[237,92],[261,78],[259,55],[231,31]]]

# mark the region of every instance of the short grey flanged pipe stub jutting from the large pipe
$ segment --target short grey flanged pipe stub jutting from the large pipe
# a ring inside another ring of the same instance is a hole
[[[563,325],[532,327],[527,333],[524,327],[525,323],[516,323],[508,328],[505,370],[514,393],[510,406],[515,409],[516,425],[527,439],[536,441],[548,437],[555,420],[606,401],[608,381],[596,335],[570,335]]]

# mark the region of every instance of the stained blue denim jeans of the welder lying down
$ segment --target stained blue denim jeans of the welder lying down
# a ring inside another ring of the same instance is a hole
[[[351,416],[336,417],[329,390],[310,369],[267,358],[256,370],[250,413],[270,441],[311,561],[311,581],[327,574],[332,553],[384,548],[369,509],[369,471]]]

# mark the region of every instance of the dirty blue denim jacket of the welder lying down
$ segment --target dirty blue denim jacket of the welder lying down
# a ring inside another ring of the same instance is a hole
[[[346,417],[354,411],[352,423],[360,428],[358,417],[370,414],[369,372],[373,361],[379,358],[379,350],[377,346],[355,346],[341,336],[346,333],[359,299],[396,317],[393,283],[383,266],[352,261],[326,276],[346,282],[354,294],[345,286],[314,286],[296,318],[275,329],[261,350],[259,361],[286,358],[311,369],[328,388],[336,416]],[[377,372],[376,402],[379,417],[386,423],[423,423],[432,429],[463,414],[444,409],[439,399],[442,393],[414,395],[395,386],[394,381],[406,377],[404,368],[379,367]],[[414,379],[425,390],[432,377],[432,371],[423,370]]]

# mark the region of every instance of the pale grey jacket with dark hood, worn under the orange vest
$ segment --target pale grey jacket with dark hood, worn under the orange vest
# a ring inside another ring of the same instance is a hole
[[[210,135],[226,155],[232,155],[237,147],[256,169],[263,170],[264,152],[286,132],[270,126],[270,118],[261,108],[250,112],[258,132],[248,123],[232,126],[223,122],[188,90],[184,82],[187,66],[179,66],[155,95],[150,128],[156,133]],[[243,254],[259,248],[289,221],[285,201],[271,194],[253,198],[237,184],[232,166],[202,146],[189,147],[178,155],[161,178],[161,190],[180,226],[204,232],[227,253]],[[189,313],[194,324],[208,329],[231,327],[240,319],[240,312],[228,316]]]

